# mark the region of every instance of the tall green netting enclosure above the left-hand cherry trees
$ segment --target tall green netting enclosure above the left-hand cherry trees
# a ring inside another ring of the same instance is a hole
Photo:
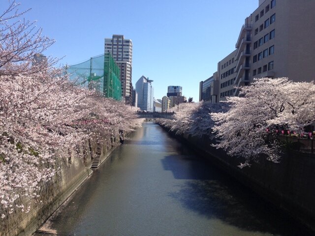
[[[70,80],[76,85],[96,89],[105,97],[122,99],[120,68],[110,53],[93,57],[84,62],[66,68]]]

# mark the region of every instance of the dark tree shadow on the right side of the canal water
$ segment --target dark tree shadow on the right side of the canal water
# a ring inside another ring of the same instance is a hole
[[[311,236],[282,210],[195,156],[189,148],[176,148],[180,155],[165,156],[161,162],[175,178],[187,180],[179,185],[179,191],[169,193],[183,207],[247,231]]]

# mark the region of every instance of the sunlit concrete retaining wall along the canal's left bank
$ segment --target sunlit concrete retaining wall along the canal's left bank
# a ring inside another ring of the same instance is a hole
[[[51,214],[90,176],[90,169],[97,146],[101,149],[101,162],[120,145],[119,135],[108,137],[99,144],[87,141],[76,150],[61,150],[59,159],[61,170],[51,181],[42,184],[38,202],[31,201],[28,213],[17,210],[0,220],[0,236],[31,236]],[[16,204],[26,203],[29,199],[20,199]],[[28,205],[26,205],[27,207]]]

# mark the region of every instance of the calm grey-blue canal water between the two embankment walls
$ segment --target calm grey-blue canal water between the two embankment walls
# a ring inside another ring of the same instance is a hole
[[[48,225],[59,236],[307,235],[153,122],[114,150]]]

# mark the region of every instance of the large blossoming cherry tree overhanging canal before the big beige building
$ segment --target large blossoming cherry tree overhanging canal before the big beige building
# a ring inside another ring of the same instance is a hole
[[[231,108],[226,113],[212,113],[216,121],[214,132],[231,156],[245,158],[240,167],[249,166],[258,156],[278,162],[281,146],[277,140],[267,140],[267,131],[277,127],[296,132],[315,121],[314,82],[292,82],[287,78],[262,78],[251,86],[242,87],[240,97],[227,97]]]

